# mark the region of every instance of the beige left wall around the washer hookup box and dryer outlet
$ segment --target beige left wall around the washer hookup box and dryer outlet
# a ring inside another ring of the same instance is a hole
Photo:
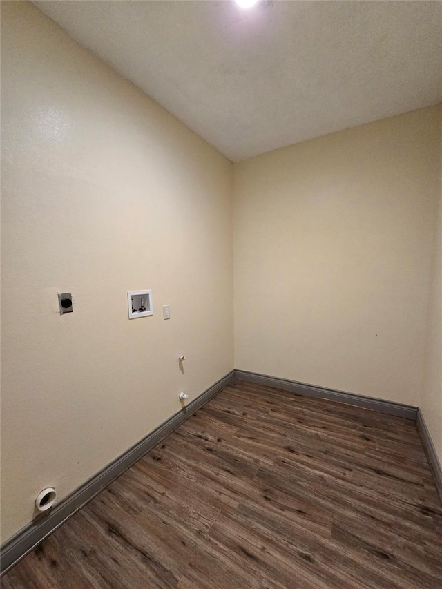
[[[32,5],[1,12],[4,541],[233,369],[233,273],[231,162]]]

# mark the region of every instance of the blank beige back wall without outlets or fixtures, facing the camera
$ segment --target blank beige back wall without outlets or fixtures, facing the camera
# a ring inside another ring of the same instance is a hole
[[[238,369],[419,405],[441,107],[235,166]]]

